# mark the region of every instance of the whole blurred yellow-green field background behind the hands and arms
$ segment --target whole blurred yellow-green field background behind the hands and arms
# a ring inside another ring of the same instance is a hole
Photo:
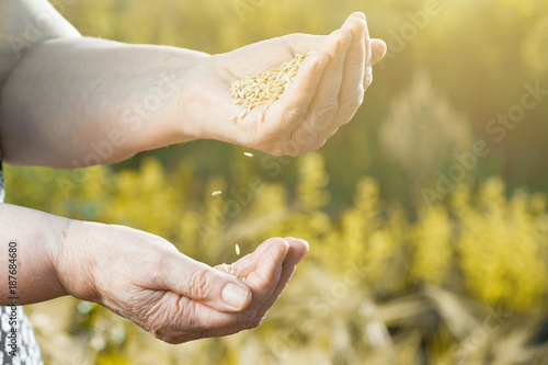
[[[359,10],[389,53],[352,123],[299,158],[194,141],[107,168],[7,167],[10,203],[212,265],[273,236],[311,247],[265,322],[229,338],[173,346],[89,303],[30,306],[46,364],[548,363],[548,101],[530,93],[548,90],[548,1],[54,4],[84,35],[207,53],[329,34]]]

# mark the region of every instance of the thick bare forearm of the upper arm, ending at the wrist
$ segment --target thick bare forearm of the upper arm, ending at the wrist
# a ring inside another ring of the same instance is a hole
[[[52,39],[21,59],[0,99],[2,156],[79,168],[196,138],[182,100],[209,56],[98,38]]]

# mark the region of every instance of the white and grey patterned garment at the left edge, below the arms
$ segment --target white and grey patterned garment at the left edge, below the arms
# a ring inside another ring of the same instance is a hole
[[[0,152],[0,204],[4,202],[2,155]],[[9,242],[0,242],[7,250]],[[7,267],[7,265],[0,265]],[[0,283],[5,285],[5,283]],[[15,355],[15,356],[14,356]],[[44,365],[34,330],[23,307],[0,307],[0,364]]]

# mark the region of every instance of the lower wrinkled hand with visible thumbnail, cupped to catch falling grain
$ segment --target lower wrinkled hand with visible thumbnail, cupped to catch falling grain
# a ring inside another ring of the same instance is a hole
[[[75,244],[72,242],[85,244]],[[65,289],[99,303],[169,343],[259,326],[308,243],[272,238],[238,262],[236,275],[180,253],[160,237],[122,226],[73,221],[53,254]]]

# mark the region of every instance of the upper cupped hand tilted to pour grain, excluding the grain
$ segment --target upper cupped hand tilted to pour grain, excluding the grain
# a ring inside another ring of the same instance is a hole
[[[312,52],[294,83],[264,113],[265,106],[246,110],[235,105],[230,85]],[[320,148],[350,122],[373,80],[372,65],[386,45],[370,39],[365,15],[353,13],[329,36],[290,34],[213,56],[199,71],[187,113],[198,115],[201,138],[214,138],[271,155],[298,156]],[[228,122],[238,116],[236,122]]]

